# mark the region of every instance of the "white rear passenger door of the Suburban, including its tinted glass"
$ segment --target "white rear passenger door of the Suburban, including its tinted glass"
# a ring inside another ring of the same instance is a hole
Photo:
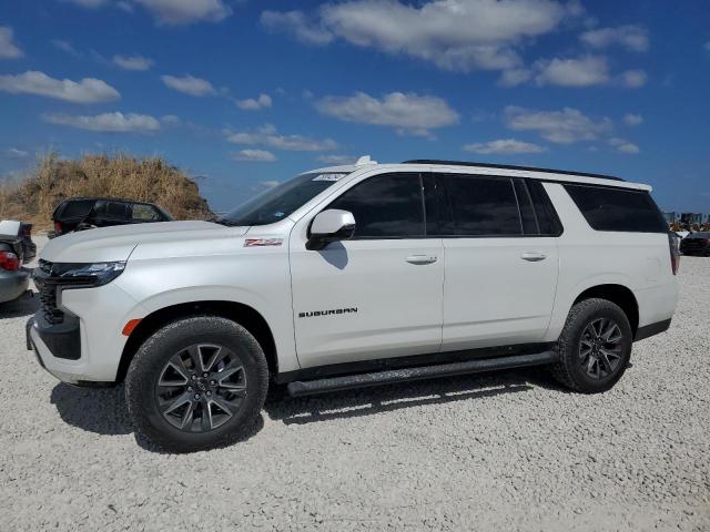
[[[560,232],[541,184],[467,174],[436,180],[446,255],[443,349],[540,341],[555,300]]]

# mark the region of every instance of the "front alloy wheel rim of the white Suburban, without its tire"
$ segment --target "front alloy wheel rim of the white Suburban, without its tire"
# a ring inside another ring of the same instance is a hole
[[[185,432],[223,426],[240,411],[246,393],[239,356],[214,344],[193,345],[173,355],[155,385],[161,415]]]

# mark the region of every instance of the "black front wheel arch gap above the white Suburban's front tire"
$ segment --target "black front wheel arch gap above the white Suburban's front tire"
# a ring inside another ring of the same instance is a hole
[[[131,331],[116,371],[115,382],[122,382],[141,345],[158,329],[179,318],[197,315],[221,316],[231,319],[248,330],[264,350],[268,371],[278,374],[278,357],[274,335],[264,317],[253,307],[236,301],[204,300],[190,301],[160,308],[145,316]]]

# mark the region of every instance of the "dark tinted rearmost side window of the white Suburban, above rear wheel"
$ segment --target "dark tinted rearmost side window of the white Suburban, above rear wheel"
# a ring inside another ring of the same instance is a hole
[[[668,233],[660,211],[645,191],[570,184],[565,190],[596,231]]]

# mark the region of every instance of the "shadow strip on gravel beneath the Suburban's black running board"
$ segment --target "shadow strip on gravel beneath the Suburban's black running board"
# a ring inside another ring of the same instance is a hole
[[[273,387],[264,409],[273,420],[305,424],[392,412],[423,405],[444,405],[538,388],[559,389],[540,368],[443,377],[416,382],[291,398],[285,386]]]

